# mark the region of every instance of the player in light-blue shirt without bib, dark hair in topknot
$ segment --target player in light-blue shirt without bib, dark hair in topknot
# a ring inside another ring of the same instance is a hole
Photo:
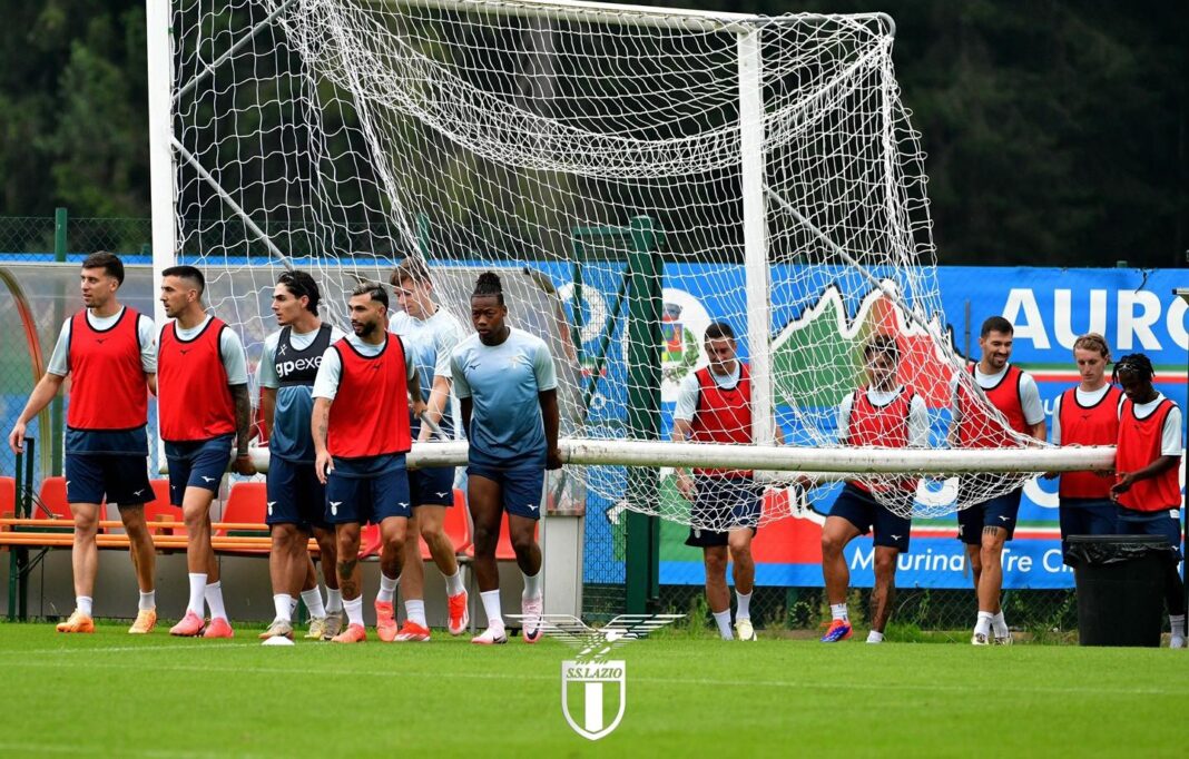
[[[543,505],[545,470],[561,468],[553,356],[539,337],[508,327],[507,316],[499,277],[480,274],[471,295],[471,322],[478,334],[459,343],[451,355],[454,392],[470,441],[466,473],[474,524],[474,576],[487,615],[487,628],[472,639],[479,645],[508,643],[496,567],[504,511],[516,563],[524,575],[524,640],[541,638],[536,521]]]

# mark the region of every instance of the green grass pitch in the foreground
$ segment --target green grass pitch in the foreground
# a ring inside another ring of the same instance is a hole
[[[1183,753],[1189,651],[662,634],[616,651],[627,710],[591,742],[546,640],[480,649],[61,635],[0,625],[2,755],[831,757]]]

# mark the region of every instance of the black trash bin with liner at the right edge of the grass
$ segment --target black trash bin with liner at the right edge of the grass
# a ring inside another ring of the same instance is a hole
[[[1164,573],[1172,546],[1158,535],[1071,535],[1077,641],[1083,646],[1160,645]]]

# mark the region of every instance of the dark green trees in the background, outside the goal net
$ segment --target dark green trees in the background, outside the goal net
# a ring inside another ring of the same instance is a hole
[[[1184,265],[1189,5],[876,5],[898,23],[942,263]],[[0,215],[62,204],[75,216],[146,216],[143,0],[0,0]]]

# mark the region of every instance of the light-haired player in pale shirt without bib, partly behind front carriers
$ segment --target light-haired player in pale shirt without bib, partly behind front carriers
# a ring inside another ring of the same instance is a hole
[[[392,316],[389,329],[400,335],[409,348],[417,367],[421,399],[426,403],[426,416],[439,428],[446,439],[455,437],[453,393],[449,356],[465,336],[458,320],[434,303],[433,280],[421,259],[410,258],[396,267],[391,277],[396,302],[404,311]],[[436,439],[429,424],[420,418],[410,419],[413,439],[429,442]],[[413,519],[409,524],[410,539],[404,542],[404,571],[401,574],[401,593],[404,595],[407,619],[396,633],[400,643],[429,640],[426,621],[424,568],[421,562],[420,535],[429,546],[429,555],[446,581],[448,608],[447,630],[459,635],[466,630],[466,588],[458,569],[454,544],[442,529],[446,510],[454,505],[454,467],[433,467],[409,472],[409,495],[413,502]]]

